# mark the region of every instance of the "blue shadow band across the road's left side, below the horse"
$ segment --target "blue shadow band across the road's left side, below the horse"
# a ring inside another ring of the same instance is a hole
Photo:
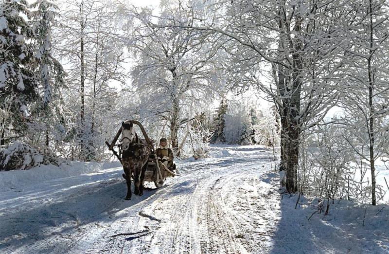
[[[156,189],[148,189],[141,197],[133,194],[131,200],[124,200],[127,187],[121,178],[108,183],[73,186],[71,189],[70,195],[64,191],[64,199],[34,202],[35,207],[24,207],[13,214],[0,214],[0,252],[13,252],[55,235],[71,235],[75,229],[90,223],[95,223],[97,227],[99,221],[106,223],[121,217],[138,216],[137,213],[117,213],[131,209],[156,192]],[[49,253],[55,245],[60,244],[60,241],[53,244],[53,247],[47,244],[46,249],[40,249],[39,252]],[[66,246],[64,249],[66,250]]]

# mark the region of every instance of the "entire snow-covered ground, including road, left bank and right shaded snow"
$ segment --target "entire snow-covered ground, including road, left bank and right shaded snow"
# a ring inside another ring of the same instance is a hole
[[[295,209],[269,148],[210,154],[178,162],[180,177],[132,200],[117,164],[0,172],[0,253],[389,252],[388,205],[341,201],[324,216],[301,198]]]

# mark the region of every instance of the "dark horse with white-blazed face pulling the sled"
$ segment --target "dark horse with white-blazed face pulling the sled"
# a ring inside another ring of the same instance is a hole
[[[134,130],[130,120],[122,123],[122,164],[123,177],[127,183],[127,195],[125,200],[131,200],[131,176],[134,178],[134,194],[143,195],[144,173],[147,169],[150,148],[144,145]]]

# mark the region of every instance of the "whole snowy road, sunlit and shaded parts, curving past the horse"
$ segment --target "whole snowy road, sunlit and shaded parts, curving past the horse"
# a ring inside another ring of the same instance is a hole
[[[121,168],[8,193],[0,199],[0,251],[265,252],[279,206],[268,202],[279,197],[266,177],[270,151],[226,147],[213,153],[220,158],[179,163],[181,177],[130,201],[124,200]]]

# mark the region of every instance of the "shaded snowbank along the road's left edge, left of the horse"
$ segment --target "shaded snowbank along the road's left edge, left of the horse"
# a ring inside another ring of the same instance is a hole
[[[59,166],[40,165],[29,170],[0,171],[0,192],[22,189],[42,181],[67,178],[81,174],[93,173],[110,167],[119,167],[120,162],[68,162]]]

